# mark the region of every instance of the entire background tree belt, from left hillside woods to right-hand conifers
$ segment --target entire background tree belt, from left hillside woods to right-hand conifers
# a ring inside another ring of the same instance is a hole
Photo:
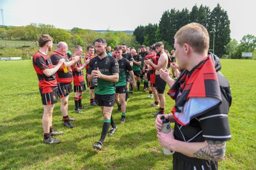
[[[157,41],[163,41],[164,48],[173,49],[175,33],[190,22],[198,22],[204,25],[210,36],[210,51],[218,56],[229,59],[241,59],[242,52],[253,52],[256,48],[256,37],[248,34],[244,36],[240,43],[236,39],[230,38],[230,20],[227,11],[223,10],[220,4],[211,11],[209,6],[198,7],[196,4],[192,10],[187,8],[180,10],[167,10],[163,12],[159,24],[139,25],[133,34],[126,32],[95,32],[90,29],[74,27],[71,30],[57,29],[54,25],[35,24],[0,28],[1,39],[18,39],[22,41],[36,41],[40,34],[50,34],[54,38],[54,43],[65,41],[68,46],[81,45],[86,47],[93,43],[96,38],[106,39],[112,48],[115,45],[126,43],[127,46],[134,46],[136,49],[140,45],[150,46]],[[0,46],[3,49],[3,46]],[[3,53],[3,52],[2,52]]]

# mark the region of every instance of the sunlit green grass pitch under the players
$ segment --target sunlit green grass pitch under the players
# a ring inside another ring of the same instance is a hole
[[[221,64],[233,101],[228,114],[232,140],[227,142],[220,169],[256,169],[256,60],[221,60]],[[120,124],[121,114],[115,106],[118,130],[107,136],[104,148],[97,151],[92,144],[100,138],[100,108],[88,106],[86,90],[83,104],[88,110],[74,113],[72,93],[68,110],[70,117],[77,118],[75,127],[63,126],[60,103],[56,104],[54,129],[64,134],[58,136],[59,145],[45,145],[43,108],[32,61],[0,61],[0,169],[172,169],[172,156],[164,155],[158,144],[151,115],[155,110],[148,107],[153,99],[147,96],[148,92],[131,95],[125,124]],[[173,101],[168,96],[166,103],[170,113]]]

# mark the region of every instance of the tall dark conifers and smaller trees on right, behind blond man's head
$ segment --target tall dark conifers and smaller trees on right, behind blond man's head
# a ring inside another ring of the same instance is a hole
[[[139,25],[134,30],[136,41],[147,46],[157,41],[163,41],[164,47],[172,49],[174,35],[183,25],[197,22],[204,25],[210,36],[210,51],[220,57],[240,59],[242,52],[253,52],[256,47],[256,37],[246,35],[238,44],[236,39],[230,38],[230,20],[227,11],[220,4],[211,11],[209,6],[198,7],[196,4],[192,10],[187,8],[180,10],[167,10],[163,12],[159,24]]]

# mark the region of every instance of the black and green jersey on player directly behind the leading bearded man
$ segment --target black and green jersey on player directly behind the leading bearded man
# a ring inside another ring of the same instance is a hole
[[[125,59],[124,57],[118,60],[118,65],[119,65],[119,80],[117,83],[115,83],[116,87],[127,85],[127,82],[126,82],[127,71],[128,73],[129,71],[132,71],[132,67],[129,63],[129,60]]]

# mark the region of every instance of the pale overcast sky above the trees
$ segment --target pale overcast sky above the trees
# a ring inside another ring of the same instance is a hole
[[[232,39],[240,41],[246,34],[256,36],[255,0],[0,0],[0,8],[4,25],[36,23],[61,29],[133,31],[138,25],[158,24],[163,12],[172,8],[191,11],[195,4],[203,4],[213,10],[218,3],[228,13]]]

